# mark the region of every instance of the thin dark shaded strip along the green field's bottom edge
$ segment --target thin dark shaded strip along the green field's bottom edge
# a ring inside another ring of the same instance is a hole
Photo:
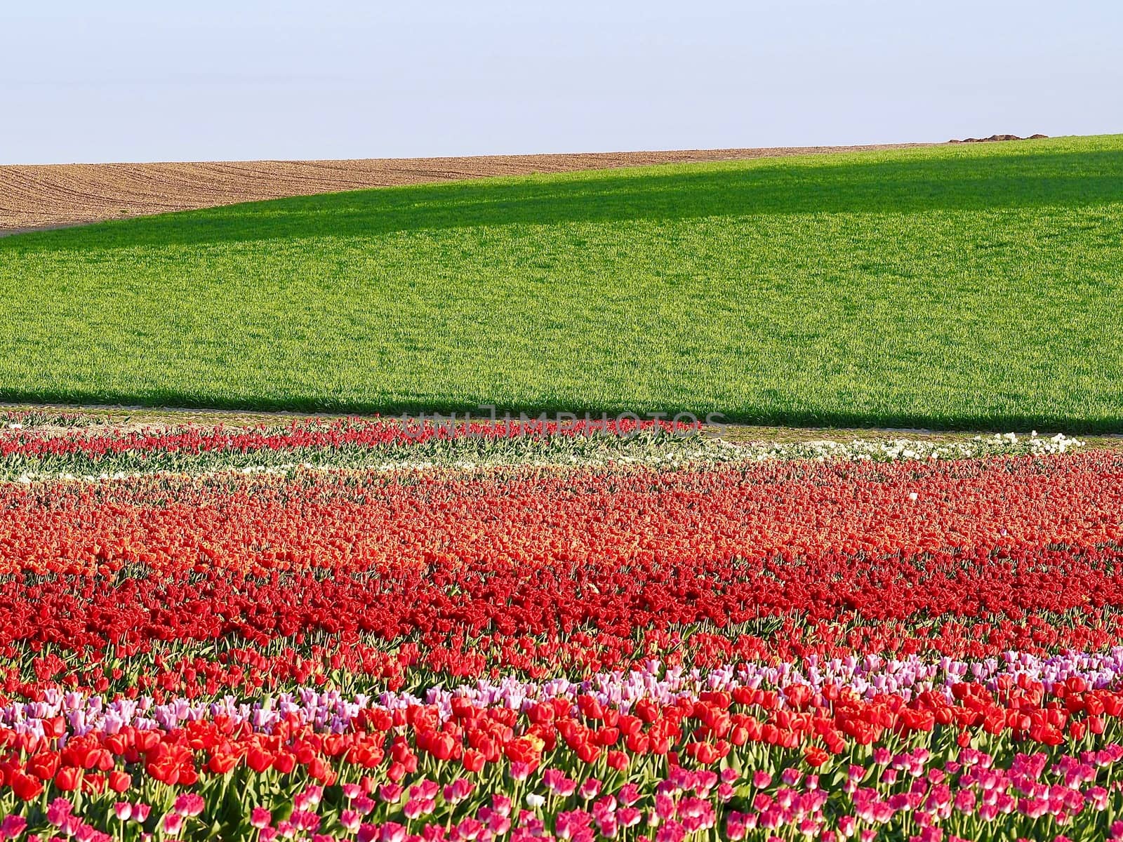
[[[210,395],[199,395],[173,390],[152,391],[144,394],[127,392],[81,392],[81,391],[16,391],[0,388],[0,402],[16,404],[52,404],[70,406],[104,406],[104,408],[150,408],[174,410],[243,410],[247,412],[309,412],[337,413],[356,415],[450,415],[471,414],[473,419],[486,420],[489,414],[481,410],[478,403],[467,401],[446,401],[444,403],[421,403],[402,401],[345,401],[313,396],[295,395],[291,399],[216,399]],[[939,412],[813,412],[792,411],[773,406],[748,406],[742,409],[719,410],[713,406],[665,405],[637,409],[634,405],[596,403],[539,403],[513,404],[500,406],[496,417],[502,420],[509,414],[512,420],[519,420],[520,413],[536,419],[542,413],[557,418],[562,413],[572,413],[577,418],[609,419],[621,415],[631,417],[638,412],[643,418],[672,419],[679,413],[692,413],[699,420],[705,421],[707,414],[714,422],[731,424],[752,424],[758,427],[801,427],[801,428],[852,428],[852,429],[895,429],[895,430],[940,430],[970,432],[1017,432],[1029,433],[1038,430],[1065,432],[1068,434],[1117,434],[1123,433],[1123,406],[1117,414],[1102,417],[1076,417],[1066,414],[1030,415],[1021,413],[1001,414],[941,414]],[[721,418],[716,415],[720,413]]]

